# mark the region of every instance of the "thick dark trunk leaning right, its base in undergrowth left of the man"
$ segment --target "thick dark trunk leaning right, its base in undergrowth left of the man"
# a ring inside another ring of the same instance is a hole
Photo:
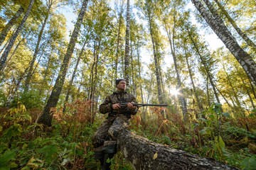
[[[58,103],[58,98],[60,97],[60,92],[63,88],[63,84],[65,81],[65,76],[68,72],[68,65],[70,63],[70,58],[73,54],[74,48],[75,48],[75,42],[78,39],[78,33],[80,31],[80,27],[82,24],[82,19],[85,16],[85,11],[87,8],[87,2],[89,0],[84,0],[82,2],[82,8],[80,9],[80,13],[78,15],[77,23],[75,23],[75,28],[73,30],[73,33],[70,38],[70,42],[68,44],[68,49],[65,54],[65,57],[63,59],[63,64],[61,64],[60,72],[58,74],[58,77],[55,81],[53,91],[50,94],[50,98],[48,99],[46,103],[46,107],[43,110],[43,113],[41,117],[38,120],[38,123],[43,123],[44,125],[51,126],[52,118],[53,118],[53,112],[50,111],[50,108],[55,108]]]

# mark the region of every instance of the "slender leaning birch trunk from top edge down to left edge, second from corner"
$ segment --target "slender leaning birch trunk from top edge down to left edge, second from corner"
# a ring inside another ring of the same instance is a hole
[[[16,38],[18,37],[18,34],[21,32],[21,30],[23,30],[23,26],[26,23],[26,20],[29,16],[29,13],[31,12],[34,1],[35,0],[30,1],[28,9],[27,9],[25,15],[23,16],[23,19],[22,19],[21,23],[19,24],[18,28],[16,29],[14,35],[11,36],[11,39],[9,40],[9,44],[7,45],[6,49],[4,50],[3,55],[1,56],[1,59],[0,59],[0,74],[2,74],[1,72],[3,71],[4,64],[6,63],[6,60],[7,60],[7,57],[9,55],[9,52],[11,51],[11,48],[14,46],[14,42],[15,42]]]

